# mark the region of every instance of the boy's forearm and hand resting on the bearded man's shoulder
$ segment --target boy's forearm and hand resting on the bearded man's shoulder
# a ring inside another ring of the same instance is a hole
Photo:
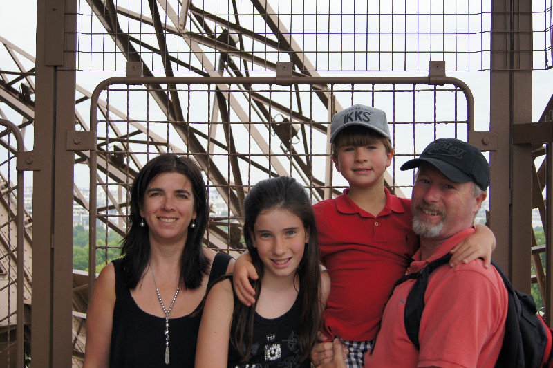
[[[485,267],[491,264],[491,252],[496,248],[496,237],[491,230],[482,223],[477,223],[476,232],[451,249],[453,256],[449,264],[454,266],[460,261],[465,264],[474,259],[483,258]]]

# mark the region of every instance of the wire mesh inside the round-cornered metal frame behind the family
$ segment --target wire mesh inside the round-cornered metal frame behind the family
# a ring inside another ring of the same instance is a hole
[[[166,104],[164,95],[178,98],[178,107]],[[348,187],[329,156],[332,111],[366,104],[388,113],[395,156],[386,185],[400,196],[409,195],[413,183],[413,174],[400,172],[402,163],[435,138],[467,140],[469,131],[467,95],[452,84],[336,83],[323,88],[206,80],[172,87],[116,84],[100,99],[97,169],[91,171],[97,187],[98,237],[91,270],[118,257],[133,178],[161,152],[191,156],[201,167],[210,205],[205,244],[236,255],[245,248],[243,199],[259,180],[293,176],[313,203]],[[86,154],[81,155],[86,162]],[[83,197],[81,204],[86,203]]]

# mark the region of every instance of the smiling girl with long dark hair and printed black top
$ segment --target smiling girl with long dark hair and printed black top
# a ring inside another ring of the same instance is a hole
[[[257,298],[245,306],[229,277],[214,284],[200,323],[196,368],[310,367],[330,279],[319,268],[306,190],[288,176],[261,181],[247,194],[244,211],[244,239],[259,273]]]

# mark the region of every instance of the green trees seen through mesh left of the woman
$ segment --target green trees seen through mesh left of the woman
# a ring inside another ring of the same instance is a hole
[[[120,241],[122,237],[114,231],[108,232],[107,263],[120,256]],[[96,246],[106,245],[106,228],[101,225],[96,227]],[[96,272],[100,272],[106,265],[106,250],[96,250]],[[88,271],[88,230],[82,225],[73,227],[73,269]]]

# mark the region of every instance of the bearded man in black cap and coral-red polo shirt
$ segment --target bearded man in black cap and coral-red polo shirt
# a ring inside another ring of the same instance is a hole
[[[456,139],[435,140],[401,169],[415,167],[411,206],[420,248],[408,275],[474,233],[474,216],[489,181],[489,165],[478,148]],[[496,269],[482,265],[477,259],[453,268],[438,266],[429,275],[419,349],[404,326],[405,300],[415,279],[398,285],[366,367],[494,367],[505,334],[507,291]]]

